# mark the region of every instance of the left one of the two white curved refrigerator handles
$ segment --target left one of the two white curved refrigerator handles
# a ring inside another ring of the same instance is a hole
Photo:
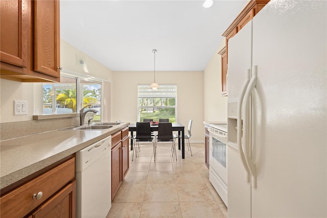
[[[237,105],[237,145],[240,150],[240,157],[241,157],[243,167],[246,171],[245,172],[245,181],[246,182],[250,182],[250,175],[249,175],[249,168],[247,166],[246,159],[244,157],[243,147],[242,147],[242,120],[241,119],[242,119],[242,102],[243,102],[244,94],[245,94],[246,88],[249,84],[249,81],[250,81],[250,69],[247,69],[245,81],[242,86],[241,94],[240,94],[239,100],[238,100],[239,103]]]

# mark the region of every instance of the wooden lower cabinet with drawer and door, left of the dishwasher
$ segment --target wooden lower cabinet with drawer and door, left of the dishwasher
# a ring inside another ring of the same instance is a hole
[[[75,157],[14,187],[0,202],[0,217],[75,217]]]

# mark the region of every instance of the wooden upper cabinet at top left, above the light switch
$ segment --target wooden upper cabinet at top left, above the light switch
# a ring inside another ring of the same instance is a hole
[[[1,78],[59,82],[59,0],[0,2]]]

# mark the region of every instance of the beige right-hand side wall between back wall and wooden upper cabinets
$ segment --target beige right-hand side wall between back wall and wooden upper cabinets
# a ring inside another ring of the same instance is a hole
[[[204,120],[227,122],[227,96],[221,96],[221,55],[225,46],[223,39],[207,64],[203,74],[204,86]]]

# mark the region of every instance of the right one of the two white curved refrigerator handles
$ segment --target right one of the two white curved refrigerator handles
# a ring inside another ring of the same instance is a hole
[[[249,138],[250,138],[250,131],[249,131],[249,117],[250,117],[250,97],[252,94],[252,91],[255,88],[256,85],[256,77],[257,77],[257,69],[258,66],[253,66],[252,67],[252,77],[251,80],[249,82],[249,85],[247,86],[246,92],[245,92],[245,96],[244,96],[244,120],[243,120],[243,133],[244,133],[244,144],[245,144],[245,160],[246,163],[249,167],[250,173],[252,175],[252,187],[256,188],[256,169],[255,166],[251,160],[250,157],[250,142],[249,142]]]

